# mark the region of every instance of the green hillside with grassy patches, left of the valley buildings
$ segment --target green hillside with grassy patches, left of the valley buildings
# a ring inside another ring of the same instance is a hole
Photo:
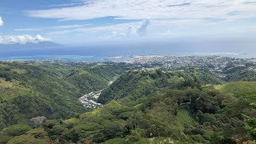
[[[0,130],[38,116],[71,118],[83,113],[86,108],[78,98],[106,88],[125,67],[0,62]]]

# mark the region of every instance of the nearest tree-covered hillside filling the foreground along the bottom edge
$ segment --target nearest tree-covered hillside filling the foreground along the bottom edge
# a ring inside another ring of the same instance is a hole
[[[250,134],[254,136],[245,116],[256,116],[250,105],[256,102],[255,93],[243,96],[246,99],[234,100],[213,86],[201,90],[162,90],[136,106],[111,101],[66,121],[46,120],[34,129],[26,125],[9,127],[2,130],[0,140],[9,143],[26,143],[32,139],[42,143],[243,142],[253,139]]]

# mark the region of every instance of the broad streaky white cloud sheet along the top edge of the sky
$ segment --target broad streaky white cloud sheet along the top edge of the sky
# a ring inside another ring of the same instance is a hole
[[[119,19],[254,18],[256,5],[246,0],[84,0],[82,6],[31,10],[31,17],[84,20],[113,16]],[[249,2],[249,4],[248,4]],[[232,15],[234,11],[238,14]]]

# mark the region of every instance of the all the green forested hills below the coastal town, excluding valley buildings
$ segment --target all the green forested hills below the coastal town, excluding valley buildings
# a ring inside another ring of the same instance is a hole
[[[131,67],[1,63],[0,143],[254,142],[253,74]],[[78,98],[94,90],[104,105],[86,110]]]

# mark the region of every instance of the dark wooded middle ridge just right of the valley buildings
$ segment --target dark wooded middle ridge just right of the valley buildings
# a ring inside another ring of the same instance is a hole
[[[205,70],[142,70],[122,74],[110,87],[102,91],[98,102],[112,99],[120,102],[139,103],[158,90],[182,89],[201,84],[218,84],[222,81]]]

